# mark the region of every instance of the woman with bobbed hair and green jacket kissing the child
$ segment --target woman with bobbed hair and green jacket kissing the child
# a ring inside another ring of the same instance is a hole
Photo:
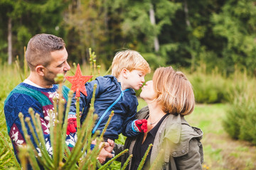
[[[153,144],[144,169],[158,160],[161,150],[158,169],[202,169],[203,132],[184,119],[195,106],[193,89],[186,76],[172,67],[160,67],[154,72],[153,81],[146,82],[140,96],[148,106],[137,113],[137,119],[146,119],[148,130],[144,135],[127,138],[124,146],[114,145],[115,154],[129,148],[129,153],[122,157],[122,165],[133,154],[127,169],[137,169],[149,144]]]

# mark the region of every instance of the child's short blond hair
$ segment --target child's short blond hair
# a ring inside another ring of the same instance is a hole
[[[144,72],[144,74],[148,74],[151,71],[149,63],[146,62],[139,52],[134,50],[119,51],[114,55],[112,75],[114,77],[119,77],[122,69],[128,69],[130,72],[134,69],[138,69]]]

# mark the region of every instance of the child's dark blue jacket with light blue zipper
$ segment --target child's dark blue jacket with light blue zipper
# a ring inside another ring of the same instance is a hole
[[[121,132],[127,137],[137,135],[138,132],[132,129],[132,121],[135,119],[138,106],[135,91],[133,89],[122,91],[121,84],[117,82],[117,78],[111,75],[97,77],[94,81],[85,84],[87,96],[80,93],[80,111],[83,110],[81,123],[84,122],[87,112],[89,111],[94,84],[97,84],[94,113],[98,115],[98,119],[95,122],[95,130],[102,132],[111,111],[114,111],[114,116],[110,121],[110,125],[107,127],[104,138],[115,140]],[[119,98],[118,101],[117,98]],[[110,106],[112,106],[112,108],[110,108]],[[110,108],[109,111],[107,111],[108,108]],[[70,112],[76,112],[75,99],[73,99],[71,103]],[[99,122],[99,120],[101,121]],[[92,132],[94,131],[92,130]]]

